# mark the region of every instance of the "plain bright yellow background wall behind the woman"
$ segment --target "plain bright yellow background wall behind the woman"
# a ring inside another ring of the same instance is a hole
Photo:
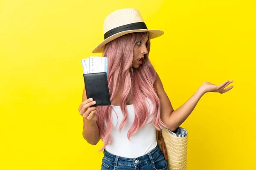
[[[253,0],[1,0],[0,169],[100,169],[102,146],[82,137],[80,59],[103,40],[103,21],[137,8],[151,29],[150,59],[176,109],[203,81],[233,79],[205,94],[181,125],[187,170],[251,170],[255,165]],[[118,61],[116,61],[118,62]]]

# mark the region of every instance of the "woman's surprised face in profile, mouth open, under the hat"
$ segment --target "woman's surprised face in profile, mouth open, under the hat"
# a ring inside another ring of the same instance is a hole
[[[138,68],[143,63],[144,54],[148,53],[147,50],[148,36],[143,40],[139,41],[134,45],[134,58],[132,62],[132,67]]]

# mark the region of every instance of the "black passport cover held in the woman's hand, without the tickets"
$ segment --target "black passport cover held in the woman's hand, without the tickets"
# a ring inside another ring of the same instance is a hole
[[[106,72],[83,75],[87,99],[96,101],[92,107],[111,105]]]

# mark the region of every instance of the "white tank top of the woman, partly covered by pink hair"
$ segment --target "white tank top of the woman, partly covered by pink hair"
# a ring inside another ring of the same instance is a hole
[[[148,102],[145,102],[148,106],[148,114],[152,112],[153,107],[151,100],[147,97]],[[149,105],[148,105],[149,103]],[[143,156],[154,149],[157,146],[156,140],[156,128],[151,122],[152,117],[149,117],[145,124],[140,127],[137,132],[131,136],[131,142],[128,140],[127,133],[132,123],[134,122],[134,105],[127,105],[127,122],[123,126],[121,132],[119,132],[119,126],[122,122],[123,115],[119,106],[111,105],[112,108],[112,131],[111,131],[111,144],[106,146],[106,150],[113,155],[125,157],[125,158],[137,158]],[[117,117],[118,116],[118,123]],[[117,124],[116,124],[117,123]]]

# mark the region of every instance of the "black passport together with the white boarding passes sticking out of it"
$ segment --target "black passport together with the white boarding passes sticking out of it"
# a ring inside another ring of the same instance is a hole
[[[93,98],[93,106],[111,105],[108,89],[108,58],[89,57],[81,59],[87,99]]]

